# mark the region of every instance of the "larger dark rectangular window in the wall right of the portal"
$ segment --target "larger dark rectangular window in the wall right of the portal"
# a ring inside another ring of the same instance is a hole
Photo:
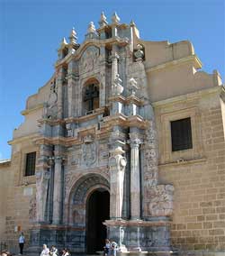
[[[193,148],[191,118],[170,122],[172,151],[184,151]]]

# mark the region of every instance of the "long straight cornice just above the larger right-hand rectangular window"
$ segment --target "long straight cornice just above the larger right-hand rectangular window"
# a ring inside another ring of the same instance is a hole
[[[182,96],[175,96],[175,97],[170,97],[160,101],[156,101],[156,102],[153,102],[152,105],[154,107],[157,107],[157,106],[163,106],[163,105],[171,105],[171,104],[184,102],[184,101],[192,101],[194,98],[196,99],[209,94],[220,93],[221,90],[222,90],[221,87],[211,87],[208,89],[202,89],[197,92],[185,94]]]

